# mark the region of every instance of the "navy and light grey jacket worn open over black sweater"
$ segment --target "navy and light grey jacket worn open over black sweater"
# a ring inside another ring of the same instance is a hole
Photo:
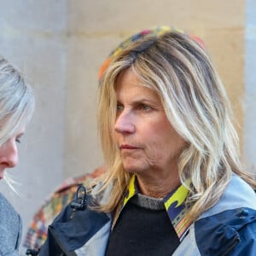
[[[90,196],[87,197],[90,204]],[[71,204],[49,226],[39,255],[104,256],[112,216]],[[189,226],[175,256],[256,255],[256,195],[240,177],[232,177],[218,203]]]

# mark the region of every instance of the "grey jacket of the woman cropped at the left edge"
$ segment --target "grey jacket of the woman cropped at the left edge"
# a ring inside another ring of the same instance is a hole
[[[0,193],[0,256],[18,256],[20,238],[20,215]]]

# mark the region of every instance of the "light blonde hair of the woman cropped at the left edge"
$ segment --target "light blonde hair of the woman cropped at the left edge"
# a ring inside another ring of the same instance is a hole
[[[0,55],[0,147],[32,118],[35,98],[20,71]],[[13,189],[12,177],[5,175]]]

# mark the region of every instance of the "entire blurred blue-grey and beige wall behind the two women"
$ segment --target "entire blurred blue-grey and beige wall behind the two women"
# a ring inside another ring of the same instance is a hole
[[[167,25],[201,37],[236,114],[241,152],[256,165],[256,0],[0,0],[0,54],[25,74],[37,109],[9,171],[24,234],[67,177],[102,165],[97,73],[111,49],[144,28]]]

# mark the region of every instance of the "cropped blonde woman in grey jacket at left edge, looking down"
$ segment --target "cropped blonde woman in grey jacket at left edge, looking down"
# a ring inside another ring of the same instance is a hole
[[[20,72],[0,56],[0,180],[18,164],[21,137],[34,110],[32,89]],[[0,193],[0,255],[19,255],[20,215]]]

